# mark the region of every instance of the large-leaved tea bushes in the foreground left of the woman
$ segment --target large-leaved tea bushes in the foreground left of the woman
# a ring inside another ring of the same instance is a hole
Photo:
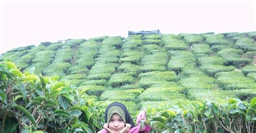
[[[100,108],[57,76],[22,73],[12,62],[5,62],[0,75],[1,132],[96,132],[103,125]]]

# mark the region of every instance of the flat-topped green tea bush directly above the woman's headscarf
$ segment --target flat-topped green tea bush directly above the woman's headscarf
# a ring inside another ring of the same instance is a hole
[[[100,100],[121,100],[136,101],[137,97],[143,92],[142,88],[122,91],[105,91],[100,96]]]

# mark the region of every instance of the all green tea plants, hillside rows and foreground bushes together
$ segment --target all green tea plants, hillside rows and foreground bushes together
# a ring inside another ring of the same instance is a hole
[[[97,132],[113,101],[133,118],[147,108],[152,132],[255,132],[255,38],[103,36],[12,49],[0,56],[0,132]]]

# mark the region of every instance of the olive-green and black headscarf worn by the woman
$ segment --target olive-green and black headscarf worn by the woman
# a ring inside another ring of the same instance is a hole
[[[117,107],[113,107],[113,106],[117,106]],[[113,107],[113,108],[111,108],[111,107]],[[119,107],[119,109],[118,109],[118,107]],[[122,116],[123,113],[120,113],[120,112],[122,112],[122,110],[120,110],[120,108],[123,110],[124,116]],[[122,117],[122,119],[124,120],[125,123],[131,124],[131,128],[135,127],[135,124],[134,124],[132,117],[129,114],[128,110],[126,109],[125,105],[123,105],[120,102],[113,102],[112,104],[107,106],[106,111],[105,111],[105,123],[109,122],[109,120],[111,119],[111,117],[114,113],[117,113],[118,115],[120,115],[120,117]],[[111,115],[111,116],[108,116],[108,115]]]

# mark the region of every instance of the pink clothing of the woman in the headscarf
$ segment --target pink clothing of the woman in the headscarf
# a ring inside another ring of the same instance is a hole
[[[152,130],[152,128],[150,127],[150,125],[148,124],[145,124],[144,128],[140,130],[140,126],[142,125],[140,123],[141,120],[145,120],[146,119],[146,114],[145,114],[145,110],[141,111],[139,113],[139,115],[137,116],[137,120],[136,120],[136,123],[137,123],[137,126],[136,127],[133,127],[129,130],[129,133],[139,133],[139,132],[142,132],[142,133],[147,133],[149,131]],[[107,133],[107,130],[106,129],[102,129],[100,130],[98,133]]]

